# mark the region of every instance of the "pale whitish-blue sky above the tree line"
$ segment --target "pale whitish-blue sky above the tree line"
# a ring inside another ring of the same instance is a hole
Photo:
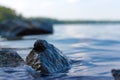
[[[26,17],[119,19],[120,0],[0,0]]]

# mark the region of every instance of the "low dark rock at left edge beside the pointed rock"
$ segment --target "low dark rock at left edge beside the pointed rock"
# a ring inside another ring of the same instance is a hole
[[[0,67],[18,67],[25,64],[15,51],[0,50]]]

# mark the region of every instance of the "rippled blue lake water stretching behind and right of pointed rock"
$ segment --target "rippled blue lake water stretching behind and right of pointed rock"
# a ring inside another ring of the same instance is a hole
[[[54,25],[54,34],[0,38],[1,47],[16,50],[24,59],[37,39],[54,44],[75,63],[68,72],[41,79],[113,80],[111,69],[120,69],[120,24]]]

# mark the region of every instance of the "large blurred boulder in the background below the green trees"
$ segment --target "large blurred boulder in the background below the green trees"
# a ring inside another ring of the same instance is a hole
[[[53,25],[39,20],[6,20],[0,24],[0,35],[3,37],[20,37],[25,35],[53,33]]]

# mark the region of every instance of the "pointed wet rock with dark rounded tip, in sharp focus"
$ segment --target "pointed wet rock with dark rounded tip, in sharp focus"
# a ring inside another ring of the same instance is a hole
[[[61,72],[70,68],[70,60],[45,40],[35,42],[26,63],[42,74]]]

